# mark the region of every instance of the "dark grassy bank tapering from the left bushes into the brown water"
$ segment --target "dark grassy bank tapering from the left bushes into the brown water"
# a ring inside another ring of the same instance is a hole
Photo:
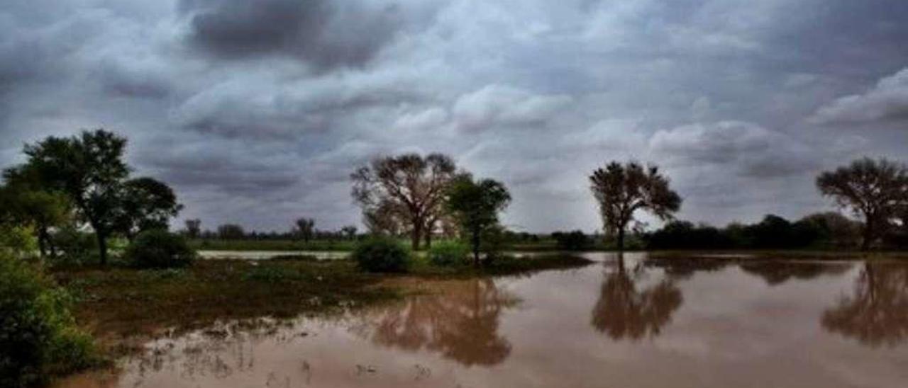
[[[582,257],[500,257],[485,267],[436,267],[417,256],[406,274],[369,274],[352,260],[280,257],[199,260],[178,269],[64,268],[56,281],[74,296],[74,315],[106,353],[138,351],[144,339],[261,317],[331,315],[413,293],[423,280],[525,275],[582,267]],[[401,281],[403,280],[403,281]],[[410,286],[408,286],[410,285]]]

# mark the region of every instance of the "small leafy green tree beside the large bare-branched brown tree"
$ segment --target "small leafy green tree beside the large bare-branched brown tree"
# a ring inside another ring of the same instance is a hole
[[[479,246],[483,233],[498,226],[498,212],[508,207],[510,193],[505,185],[492,179],[474,181],[463,176],[454,180],[448,191],[447,208],[469,234],[473,264],[479,266]]]

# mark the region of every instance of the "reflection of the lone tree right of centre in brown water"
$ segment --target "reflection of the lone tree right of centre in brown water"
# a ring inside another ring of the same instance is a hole
[[[658,335],[681,306],[681,290],[674,279],[663,278],[654,286],[640,290],[637,283],[646,273],[646,266],[637,265],[631,271],[624,257],[617,259],[617,269],[606,274],[593,307],[592,325],[614,340],[639,340]]]

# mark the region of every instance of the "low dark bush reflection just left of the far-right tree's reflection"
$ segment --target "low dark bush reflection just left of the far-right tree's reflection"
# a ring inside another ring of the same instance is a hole
[[[848,263],[816,263],[791,260],[747,260],[740,264],[748,274],[760,276],[769,286],[777,286],[790,279],[809,280],[823,275],[841,275],[851,269]]]

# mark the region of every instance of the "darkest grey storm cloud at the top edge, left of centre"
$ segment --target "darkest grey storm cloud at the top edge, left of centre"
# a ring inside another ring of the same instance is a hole
[[[361,66],[401,25],[394,5],[327,0],[183,0],[190,40],[224,58],[290,55],[319,68]]]

